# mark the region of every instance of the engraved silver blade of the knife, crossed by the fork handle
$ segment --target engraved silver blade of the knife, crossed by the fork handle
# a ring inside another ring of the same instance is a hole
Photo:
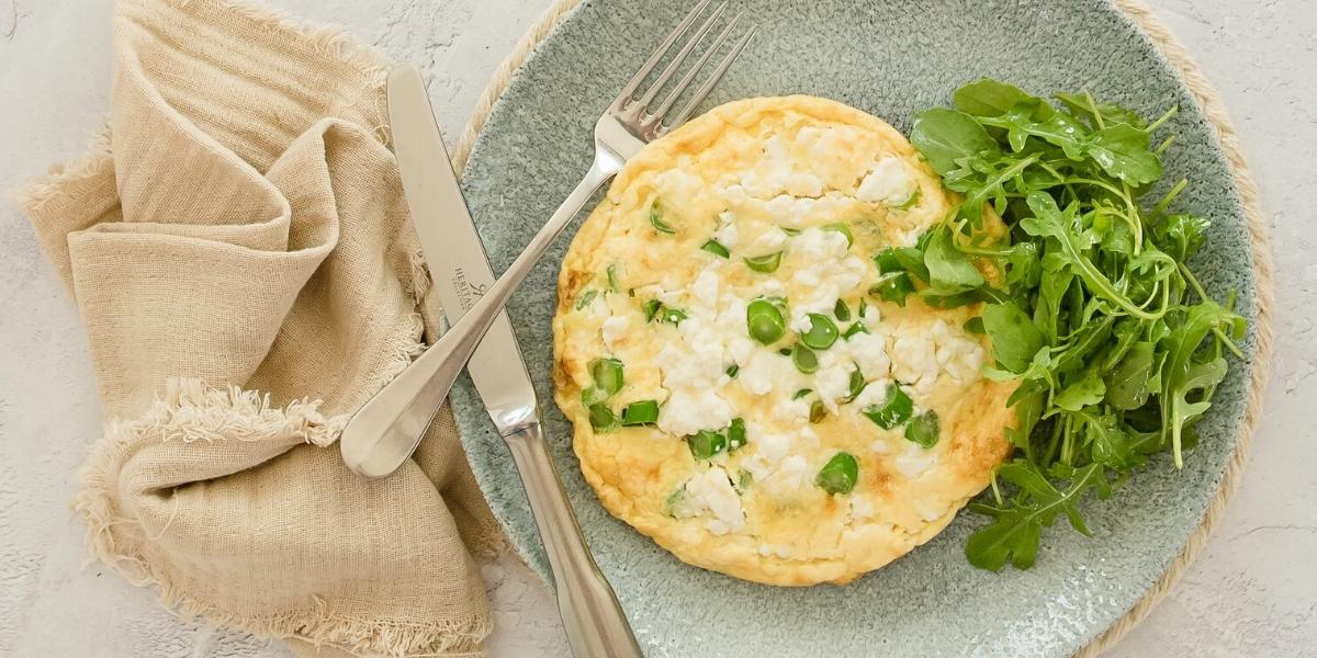
[[[389,120],[394,155],[425,265],[448,316],[456,322],[494,284],[444,138],[415,67],[389,74]],[[499,436],[539,422],[539,403],[507,312],[494,320],[466,366]]]

